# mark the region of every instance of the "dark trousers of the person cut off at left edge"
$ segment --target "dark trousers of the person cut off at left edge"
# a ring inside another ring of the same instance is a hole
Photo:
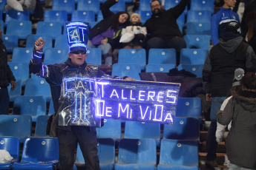
[[[7,87],[0,88],[0,115],[8,115],[9,101],[10,97]]]

